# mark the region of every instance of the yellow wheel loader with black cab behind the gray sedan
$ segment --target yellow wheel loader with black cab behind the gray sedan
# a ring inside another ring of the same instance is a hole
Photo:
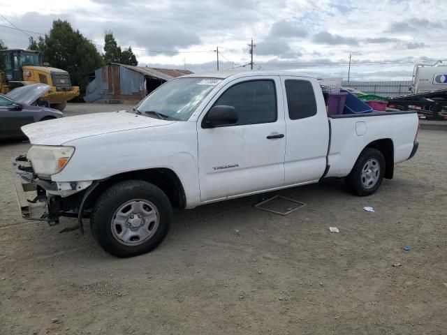
[[[0,50],[0,57],[3,61],[3,71],[0,72],[2,94],[16,87],[38,82],[48,84],[51,88],[42,98],[57,110],[64,110],[67,101],[79,96],[79,87],[71,86],[68,72],[42,64],[42,57],[38,51]]]

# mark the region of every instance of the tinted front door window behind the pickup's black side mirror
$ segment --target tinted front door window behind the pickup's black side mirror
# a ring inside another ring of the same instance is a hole
[[[230,126],[277,121],[277,96],[273,80],[235,84],[217,99],[214,106],[217,105],[235,107],[237,123]]]

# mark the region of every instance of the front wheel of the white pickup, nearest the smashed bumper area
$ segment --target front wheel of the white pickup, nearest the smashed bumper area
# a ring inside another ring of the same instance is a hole
[[[160,188],[141,180],[110,186],[91,212],[91,231],[101,247],[117,257],[152,251],[173,221],[170,201]]]

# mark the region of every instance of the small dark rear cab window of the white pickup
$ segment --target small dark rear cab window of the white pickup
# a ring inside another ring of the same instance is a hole
[[[315,92],[308,80],[288,79],[286,87],[288,117],[291,120],[305,119],[316,115]]]

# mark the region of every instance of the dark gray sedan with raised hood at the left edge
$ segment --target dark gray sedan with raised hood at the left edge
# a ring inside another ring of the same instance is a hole
[[[40,105],[40,97],[50,86],[32,84],[0,94],[0,140],[25,137],[20,127],[33,122],[64,117],[59,110]]]

